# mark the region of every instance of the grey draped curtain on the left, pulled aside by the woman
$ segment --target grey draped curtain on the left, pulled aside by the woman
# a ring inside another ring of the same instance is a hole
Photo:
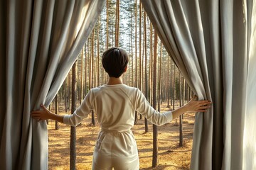
[[[0,167],[48,169],[45,121],[30,113],[57,94],[105,1],[0,2]]]

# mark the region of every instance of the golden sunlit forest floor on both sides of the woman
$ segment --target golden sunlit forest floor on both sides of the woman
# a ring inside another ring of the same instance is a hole
[[[161,112],[169,111],[166,103],[162,103]],[[61,111],[61,108],[60,108]],[[64,114],[64,113],[60,113]],[[159,162],[152,168],[153,132],[149,123],[149,132],[144,133],[144,118],[138,120],[132,132],[137,140],[139,149],[140,169],[189,169],[191,160],[191,148],[193,140],[194,113],[185,113],[183,116],[183,146],[179,147],[178,120],[172,120],[158,127]],[[76,128],[76,168],[91,169],[92,153],[100,126],[90,124],[90,117],[82,121]],[[96,121],[97,122],[97,121]],[[55,130],[55,122],[48,123],[48,169],[70,169],[70,126],[60,124],[59,130]]]

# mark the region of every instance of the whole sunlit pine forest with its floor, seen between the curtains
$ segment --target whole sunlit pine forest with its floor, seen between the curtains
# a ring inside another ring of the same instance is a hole
[[[161,43],[139,0],[107,0],[77,61],[49,106],[56,114],[72,114],[87,92],[107,84],[103,52],[121,47],[129,55],[123,83],[139,88],[157,111],[172,111],[193,92]],[[189,169],[194,113],[161,127],[135,113],[134,137],[141,169]],[[100,125],[92,113],[76,128],[48,120],[49,169],[91,169]]]

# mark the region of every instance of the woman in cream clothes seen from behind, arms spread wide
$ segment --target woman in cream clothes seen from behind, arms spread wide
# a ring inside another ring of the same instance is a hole
[[[91,89],[81,106],[72,115],[55,115],[45,106],[42,111],[33,111],[37,120],[52,119],[76,126],[91,111],[97,113],[101,130],[93,153],[92,169],[139,169],[137,144],[131,128],[135,111],[155,125],[164,125],[188,111],[206,112],[210,101],[196,101],[196,96],[175,111],[159,113],[152,108],[137,88],[122,83],[122,74],[127,71],[128,55],[119,47],[112,47],[102,55],[102,65],[109,75],[103,86]]]

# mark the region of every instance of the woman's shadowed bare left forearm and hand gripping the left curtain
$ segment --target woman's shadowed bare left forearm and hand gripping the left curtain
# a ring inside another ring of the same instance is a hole
[[[40,120],[48,120],[48,119],[51,119],[51,120],[55,120],[55,121],[58,121],[60,123],[63,123],[63,118],[64,116],[63,115],[56,115],[54,113],[51,113],[47,108],[46,106],[43,106],[43,104],[41,105],[41,108],[43,108],[43,110],[40,110],[40,111],[32,111],[31,112],[31,116],[32,118],[40,121]]]

